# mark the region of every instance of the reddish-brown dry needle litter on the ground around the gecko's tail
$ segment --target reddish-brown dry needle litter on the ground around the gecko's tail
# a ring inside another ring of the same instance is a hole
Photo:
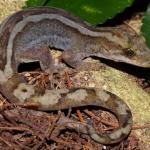
[[[80,79],[78,83],[86,84],[89,75],[87,74],[86,76]],[[34,83],[35,86],[43,85],[45,87],[48,84],[45,75],[40,75],[39,72],[26,74],[25,77],[28,82],[33,81],[34,78],[35,80],[32,84]],[[61,82],[55,82],[60,79]],[[53,88],[68,87],[68,81],[72,82],[71,86],[74,85],[74,75],[70,71],[67,74],[66,71],[64,74],[55,74],[53,80],[55,82]],[[56,83],[59,83],[59,85]],[[89,107],[88,110],[87,108],[78,108],[69,110],[68,113],[66,111],[64,113],[59,112],[58,114],[57,112],[46,113],[20,108],[19,106],[10,106],[2,97],[0,104],[1,108],[3,108],[0,114],[0,149],[124,150],[128,149],[128,147],[129,149],[135,148],[135,146],[129,144],[131,143],[133,145],[136,143],[136,139],[132,139],[132,137],[130,137],[129,142],[125,140],[114,146],[103,146],[93,141],[88,135],[65,129],[58,123],[60,119],[64,120],[68,118],[75,121],[80,120],[86,124],[88,119],[92,119],[98,132],[111,132],[118,124],[116,118],[105,111],[95,110],[95,108]],[[9,107],[4,109],[5,105]]]

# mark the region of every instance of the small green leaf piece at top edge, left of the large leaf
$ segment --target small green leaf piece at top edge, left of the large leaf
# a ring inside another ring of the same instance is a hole
[[[26,2],[27,7],[34,7],[34,6],[43,6],[47,0],[28,0]]]

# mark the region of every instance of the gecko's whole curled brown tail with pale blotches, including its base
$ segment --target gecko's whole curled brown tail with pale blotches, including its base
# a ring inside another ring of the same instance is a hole
[[[14,80],[13,80],[14,79]],[[125,139],[132,128],[132,114],[127,104],[118,96],[96,88],[45,89],[42,92],[33,85],[20,82],[16,77],[5,83],[7,91],[2,94],[8,99],[15,98],[15,104],[22,107],[53,111],[71,107],[97,106],[112,112],[118,119],[119,127],[111,133],[98,133],[91,121],[86,125],[80,122],[63,122],[65,128],[88,134],[93,140],[102,144],[114,144]],[[7,86],[8,85],[8,86]],[[10,86],[11,85],[11,86]],[[11,96],[9,96],[9,93]]]

